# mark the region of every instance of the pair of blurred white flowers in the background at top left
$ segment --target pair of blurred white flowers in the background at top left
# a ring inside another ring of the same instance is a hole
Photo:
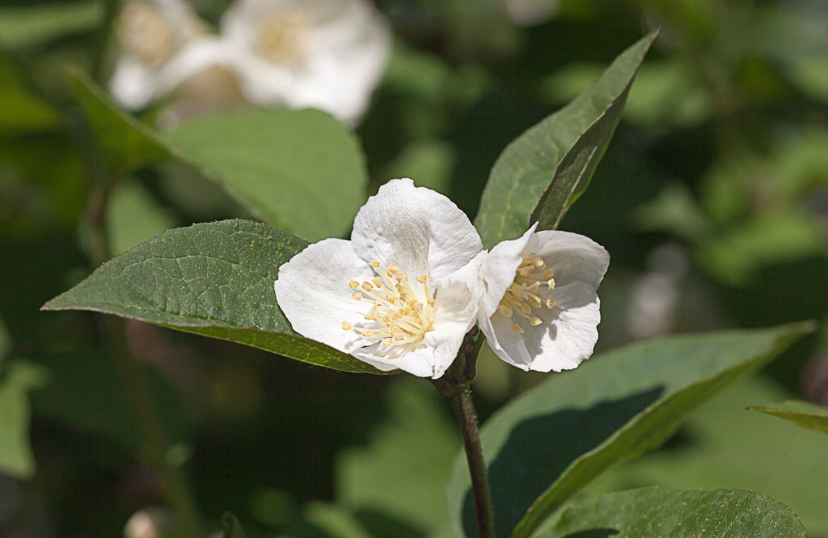
[[[388,22],[367,0],[236,0],[217,33],[185,0],[131,0],[117,30],[121,54],[109,86],[128,108],[210,74],[200,87],[230,81],[249,103],[320,108],[351,124],[391,47]]]

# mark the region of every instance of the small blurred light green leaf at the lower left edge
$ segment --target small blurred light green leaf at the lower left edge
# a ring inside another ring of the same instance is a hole
[[[0,363],[0,473],[22,479],[35,473],[28,392],[42,387],[44,380],[41,367],[21,361]]]

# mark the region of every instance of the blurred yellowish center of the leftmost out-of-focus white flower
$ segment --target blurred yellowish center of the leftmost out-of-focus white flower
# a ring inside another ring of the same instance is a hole
[[[118,40],[143,65],[157,67],[176,52],[170,23],[146,2],[130,2],[118,17]]]

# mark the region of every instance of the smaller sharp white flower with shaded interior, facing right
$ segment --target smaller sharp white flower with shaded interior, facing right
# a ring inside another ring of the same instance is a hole
[[[480,329],[507,363],[561,372],[589,358],[598,340],[595,290],[609,253],[577,233],[535,228],[498,243],[485,258]]]

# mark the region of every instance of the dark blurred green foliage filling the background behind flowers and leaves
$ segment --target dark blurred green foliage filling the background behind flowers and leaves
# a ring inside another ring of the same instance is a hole
[[[192,3],[216,22],[228,2]],[[376,3],[395,45],[356,129],[366,195],[410,176],[474,217],[503,147],[661,26],[591,189],[561,227],[612,255],[598,349],[826,319],[824,2]],[[0,7],[0,425],[24,434],[0,440],[13,462],[0,469],[2,536],[121,536],[136,516],[164,521],[150,509],[159,484],[137,457],[99,319],[38,311],[103,261],[90,219],[105,219],[113,255],[167,228],[249,217],[181,165],[135,171],[99,214],[91,134],[65,65],[105,80],[106,13],[102,0]],[[164,106],[139,118],[154,122]],[[231,510],[248,536],[447,536],[443,490],[460,437],[427,383],[126,327],[162,410],[167,456],[214,528]],[[792,397],[828,404],[826,349],[824,331],[797,345],[592,490],[753,488],[794,507],[810,536],[828,536],[824,436],[744,411]],[[542,378],[488,350],[479,369],[484,416]],[[25,427],[12,428],[29,424],[31,452]]]

